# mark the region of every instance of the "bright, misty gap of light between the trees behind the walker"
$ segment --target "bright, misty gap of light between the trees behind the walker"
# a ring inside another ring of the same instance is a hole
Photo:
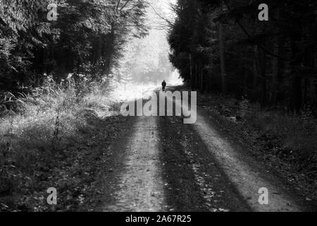
[[[120,59],[120,66],[113,70],[114,86],[112,96],[126,101],[135,98],[146,98],[154,90],[161,89],[163,80],[168,85],[182,85],[178,70],[174,69],[168,59],[170,47],[167,31],[159,28],[156,13],[162,13],[173,20],[173,11],[169,4],[175,0],[151,1],[147,10],[149,35],[144,38],[131,38],[125,44],[125,52]]]

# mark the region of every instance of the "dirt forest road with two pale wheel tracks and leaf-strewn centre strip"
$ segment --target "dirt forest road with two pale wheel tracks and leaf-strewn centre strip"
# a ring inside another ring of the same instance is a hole
[[[103,211],[309,210],[199,107],[195,124],[130,117],[112,148],[101,178]],[[268,190],[267,205],[259,203],[261,188]]]

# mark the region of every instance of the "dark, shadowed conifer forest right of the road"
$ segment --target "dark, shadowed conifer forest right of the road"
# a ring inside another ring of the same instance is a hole
[[[300,113],[317,107],[317,2],[179,0],[170,60],[192,88]]]

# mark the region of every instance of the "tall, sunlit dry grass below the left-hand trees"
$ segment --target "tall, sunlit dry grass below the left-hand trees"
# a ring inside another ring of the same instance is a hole
[[[21,190],[36,189],[39,172],[48,171],[54,156],[74,142],[78,129],[87,126],[87,114],[110,115],[109,93],[107,81],[69,78],[57,84],[48,76],[30,94],[5,96],[0,102],[0,203],[1,198],[16,203]]]

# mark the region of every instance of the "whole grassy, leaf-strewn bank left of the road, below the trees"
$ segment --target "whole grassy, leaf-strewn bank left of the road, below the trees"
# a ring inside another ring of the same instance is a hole
[[[97,165],[103,152],[94,148],[96,131],[109,126],[106,137],[116,130],[110,90],[106,82],[57,85],[50,79],[32,94],[2,95],[0,211],[54,210],[46,203],[49,187],[58,188],[59,209],[84,202],[98,170],[92,162]]]

